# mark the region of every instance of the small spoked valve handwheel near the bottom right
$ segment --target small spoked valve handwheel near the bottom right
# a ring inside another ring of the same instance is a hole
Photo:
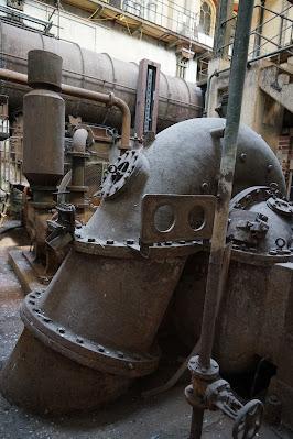
[[[247,403],[238,411],[235,419],[234,439],[252,439],[261,427],[263,416],[263,404],[258,399]]]

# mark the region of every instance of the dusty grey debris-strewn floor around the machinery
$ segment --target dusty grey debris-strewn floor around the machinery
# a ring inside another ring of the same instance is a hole
[[[23,293],[8,264],[8,249],[23,243],[21,230],[0,235],[0,366],[22,330],[18,309]],[[183,389],[178,385],[145,400],[133,388],[98,413],[57,419],[32,416],[0,396],[0,439],[187,439],[191,408]],[[231,422],[218,413],[208,413],[203,438],[231,438]],[[258,438],[292,439],[293,433],[263,426]]]

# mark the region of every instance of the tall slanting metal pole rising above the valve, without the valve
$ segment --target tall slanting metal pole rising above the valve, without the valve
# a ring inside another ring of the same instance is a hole
[[[221,278],[221,265],[226,244],[229,201],[234,183],[237,154],[237,138],[241,113],[253,3],[253,0],[239,1],[239,11],[231,61],[227,121],[223,142],[220,177],[218,182],[218,204],[214,220],[214,231],[211,238],[211,249],[206,286],[206,298],[202,325],[199,363],[200,366],[204,369],[208,369],[210,366],[210,356],[214,344],[214,332],[217,317],[218,287],[220,285]]]

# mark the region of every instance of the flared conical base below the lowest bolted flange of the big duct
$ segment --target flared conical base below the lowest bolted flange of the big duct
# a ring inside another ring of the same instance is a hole
[[[39,414],[95,409],[119,397],[131,380],[83,366],[24,329],[1,373],[11,403]]]

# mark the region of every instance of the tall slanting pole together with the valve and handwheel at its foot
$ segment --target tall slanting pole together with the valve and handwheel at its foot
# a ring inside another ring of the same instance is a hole
[[[239,421],[239,424],[235,426],[237,432],[243,427],[245,421],[248,419],[248,417],[246,418],[243,416],[243,413],[247,414],[250,409],[249,407],[246,410],[246,407],[243,407],[241,403],[232,397],[229,384],[227,382],[224,384],[224,381],[220,380],[219,366],[216,361],[211,360],[211,353],[219,300],[219,285],[221,285],[223,276],[229,202],[232,193],[234,175],[236,168],[237,139],[240,123],[253,3],[253,0],[241,0],[239,2],[239,13],[231,61],[227,121],[224,132],[220,160],[220,177],[217,191],[218,202],[214,219],[214,231],[211,237],[211,249],[209,255],[206,296],[202,323],[200,350],[199,355],[192,358],[188,363],[193,382],[193,385],[186,388],[187,400],[193,406],[193,419],[189,439],[202,438],[205,409],[219,408],[226,414],[229,413],[229,410],[225,410],[225,404],[220,404],[220,402],[224,400],[224,393],[226,396],[226,405],[229,406],[230,404],[229,408],[235,414],[234,418],[238,419],[238,415],[242,409],[240,415],[240,418],[242,417],[242,422]],[[220,131],[218,132],[218,136],[221,136]],[[227,396],[229,395],[229,392],[230,397]],[[257,402],[254,405],[256,413],[260,414],[261,416],[261,403]],[[260,425],[257,425],[257,422],[256,426],[253,425],[256,432],[259,427]],[[247,437],[246,431],[247,428],[245,426],[243,438]],[[251,429],[249,431],[251,432]],[[252,438],[253,436],[249,437]],[[235,431],[234,437],[238,437],[238,435],[235,436]]]

